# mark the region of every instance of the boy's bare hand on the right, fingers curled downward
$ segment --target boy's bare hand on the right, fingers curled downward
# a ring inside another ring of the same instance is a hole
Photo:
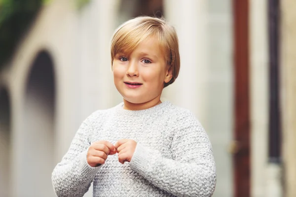
[[[130,139],[122,139],[118,140],[114,146],[118,153],[118,161],[123,164],[125,161],[131,161],[137,142]]]

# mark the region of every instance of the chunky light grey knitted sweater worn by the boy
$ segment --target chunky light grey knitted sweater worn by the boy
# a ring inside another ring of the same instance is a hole
[[[93,182],[94,197],[211,197],[216,185],[212,146],[192,113],[168,101],[140,111],[122,106],[83,121],[53,170],[57,196],[82,197]],[[115,154],[103,165],[88,165],[92,142],[119,139],[137,142],[130,162],[121,164]]]

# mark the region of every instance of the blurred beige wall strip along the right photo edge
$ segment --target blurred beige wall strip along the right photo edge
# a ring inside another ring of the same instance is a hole
[[[282,0],[281,79],[286,197],[296,196],[296,1]]]

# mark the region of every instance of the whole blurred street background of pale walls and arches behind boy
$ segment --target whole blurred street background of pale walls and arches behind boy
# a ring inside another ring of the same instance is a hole
[[[296,0],[0,0],[0,197],[55,196],[51,172],[81,122],[122,102],[110,40],[139,15],[176,28],[181,71],[162,100],[205,127],[214,197],[296,197],[295,10]]]

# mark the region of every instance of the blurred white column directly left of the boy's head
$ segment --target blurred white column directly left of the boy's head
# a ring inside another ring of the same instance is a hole
[[[116,28],[119,0],[91,1],[81,13],[82,116],[119,102],[111,73],[110,40]],[[122,99],[120,99],[122,101]]]

